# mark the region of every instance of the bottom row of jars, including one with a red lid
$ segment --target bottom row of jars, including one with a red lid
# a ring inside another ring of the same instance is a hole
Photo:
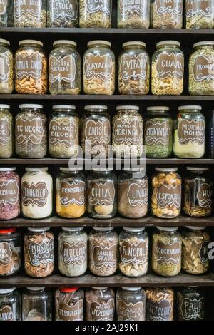
[[[0,289],[0,321],[51,321],[52,292],[44,287]],[[206,289],[200,287],[60,287],[54,292],[56,321],[203,321]],[[22,312],[21,312],[22,310]],[[116,318],[115,318],[116,313]],[[85,317],[84,317],[85,316]]]

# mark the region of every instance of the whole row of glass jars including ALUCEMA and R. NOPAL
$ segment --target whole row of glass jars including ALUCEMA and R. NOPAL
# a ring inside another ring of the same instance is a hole
[[[204,274],[209,269],[210,235],[205,227],[157,227],[152,234],[151,268],[165,277],[182,269],[188,274]],[[58,234],[58,270],[78,277],[90,269],[98,277],[108,277],[117,269],[126,277],[148,273],[150,243],[144,227],[123,227],[119,237],[113,227],[93,227],[87,235],[83,227],[63,227]],[[0,277],[21,269],[21,234],[15,228],[0,230]],[[24,235],[24,269],[34,278],[54,272],[54,234],[49,227],[29,227]]]

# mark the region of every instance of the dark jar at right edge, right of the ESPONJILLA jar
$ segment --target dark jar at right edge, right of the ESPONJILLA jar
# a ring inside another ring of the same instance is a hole
[[[213,211],[213,182],[209,168],[188,167],[184,180],[184,207],[190,217],[207,217]]]

